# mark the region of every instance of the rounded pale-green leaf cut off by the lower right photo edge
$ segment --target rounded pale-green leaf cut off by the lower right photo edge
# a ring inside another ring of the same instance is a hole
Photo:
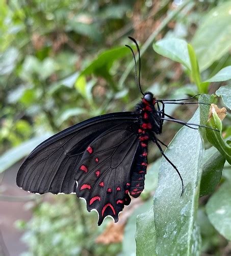
[[[231,184],[226,181],[206,205],[210,222],[226,239],[231,240]]]

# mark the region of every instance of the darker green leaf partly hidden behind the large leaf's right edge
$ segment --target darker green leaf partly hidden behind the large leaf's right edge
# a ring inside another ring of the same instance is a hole
[[[215,147],[206,150],[203,157],[200,197],[212,194],[222,175],[225,158]]]

